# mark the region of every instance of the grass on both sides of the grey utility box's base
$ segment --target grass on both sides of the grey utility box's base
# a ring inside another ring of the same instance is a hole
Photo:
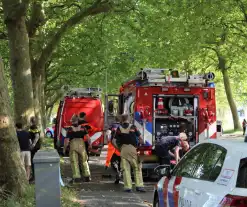
[[[80,207],[77,200],[77,192],[66,187],[62,188],[61,206],[62,207]],[[0,199],[1,207],[35,207],[35,188],[33,185],[27,187],[25,195],[22,198],[11,197],[8,200]]]

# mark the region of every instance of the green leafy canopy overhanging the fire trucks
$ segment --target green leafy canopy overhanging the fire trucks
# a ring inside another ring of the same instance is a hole
[[[29,25],[34,5],[42,8],[35,13],[38,28],[30,38],[34,60],[39,60],[69,18],[93,2],[39,0],[31,4]],[[116,92],[123,81],[142,67],[177,67],[191,73],[215,72],[217,105],[227,107],[215,49],[227,61],[235,100],[246,103],[245,1],[108,2],[109,11],[87,17],[68,29],[53,50],[46,64],[47,106],[59,100],[58,91],[65,84],[105,90],[107,72],[107,90]],[[3,22],[0,29],[5,29]],[[6,43],[0,44],[1,53],[7,57]]]

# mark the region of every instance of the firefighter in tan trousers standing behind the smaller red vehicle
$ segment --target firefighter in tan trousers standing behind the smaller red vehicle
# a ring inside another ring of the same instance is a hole
[[[70,157],[71,168],[73,173],[72,183],[77,183],[81,181],[79,161],[81,162],[82,165],[82,174],[84,176],[84,181],[89,182],[90,170],[87,162],[88,156],[84,143],[84,137],[86,137],[90,147],[89,135],[87,129],[79,125],[79,118],[77,115],[73,115],[71,122],[72,122],[72,126],[68,129],[67,137],[65,139],[64,153],[69,143],[70,144],[69,157]]]

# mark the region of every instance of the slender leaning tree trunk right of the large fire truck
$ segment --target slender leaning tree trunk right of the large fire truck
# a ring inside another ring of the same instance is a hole
[[[238,118],[238,110],[235,104],[235,101],[233,99],[232,95],[232,89],[231,89],[231,83],[230,79],[228,76],[228,71],[227,69],[221,70],[222,75],[223,75],[223,81],[224,81],[224,87],[225,87],[225,92],[226,92],[226,97],[227,101],[229,103],[231,112],[232,112],[232,119],[233,119],[233,124],[234,124],[234,130],[241,129],[239,118]]]

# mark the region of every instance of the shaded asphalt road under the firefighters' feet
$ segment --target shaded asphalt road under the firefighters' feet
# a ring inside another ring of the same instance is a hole
[[[69,158],[65,159],[65,165],[62,169],[63,181],[65,184],[71,179],[71,169],[69,166]],[[123,192],[123,183],[114,184],[114,176],[111,175],[111,169],[104,169],[105,153],[101,157],[90,157],[90,170],[92,181],[90,183],[81,183],[73,185],[79,192],[78,201],[83,207],[150,207],[152,206],[153,188],[155,181],[145,182],[146,193],[135,192],[133,185],[133,193]],[[102,176],[105,175],[105,176]],[[134,184],[134,183],[133,183]],[[71,186],[72,187],[72,186]]]

